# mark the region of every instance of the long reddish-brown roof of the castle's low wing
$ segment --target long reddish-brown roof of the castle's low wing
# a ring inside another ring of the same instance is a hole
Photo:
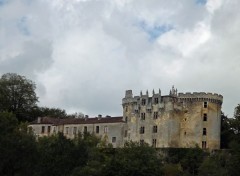
[[[31,122],[31,125],[37,124],[52,124],[52,125],[64,125],[64,124],[97,124],[97,123],[119,123],[124,122],[123,117],[93,117],[93,118],[68,118],[68,119],[58,119],[52,117],[41,117],[41,122],[38,120]]]

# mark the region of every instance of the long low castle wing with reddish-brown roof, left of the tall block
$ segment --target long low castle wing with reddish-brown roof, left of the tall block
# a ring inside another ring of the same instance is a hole
[[[122,147],[123,132],[126,123],[121,117],[98,117],[55,119],[39,117],[29,127],[33,129],[36,137],[50,136],[63,133],[67,138],[73,139],[79,133],[89,132],[112,144],[113,147]]]

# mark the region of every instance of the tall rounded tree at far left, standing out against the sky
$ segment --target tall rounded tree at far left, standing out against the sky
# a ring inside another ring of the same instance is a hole
[[[0,111],[13,112],[20,121],[28,120],[27,112],[36,105],[36,85],[16,73],[6,73],[0,79]]]

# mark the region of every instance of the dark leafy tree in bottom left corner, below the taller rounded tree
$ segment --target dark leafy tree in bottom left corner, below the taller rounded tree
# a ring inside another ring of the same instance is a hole
[[[0,129],[0,175],[33,175],[37,146],[27,124],[18,125],[12,113],[2,112]]]

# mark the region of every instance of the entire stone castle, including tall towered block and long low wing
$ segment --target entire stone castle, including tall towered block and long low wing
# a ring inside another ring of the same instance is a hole
[[[38,136],[63,132],[74,138],[79,132],[90,132],[105,139],[113,147],[126,141],[146,142],[157,148],[220,149],[222,95],[193,92],[177,93],[172,87],[169,95],[161,91],[152,96],[148,91],[133,96],[127,90],[122,99],[123,116],[53,119],[38,118],[32,122]]]

